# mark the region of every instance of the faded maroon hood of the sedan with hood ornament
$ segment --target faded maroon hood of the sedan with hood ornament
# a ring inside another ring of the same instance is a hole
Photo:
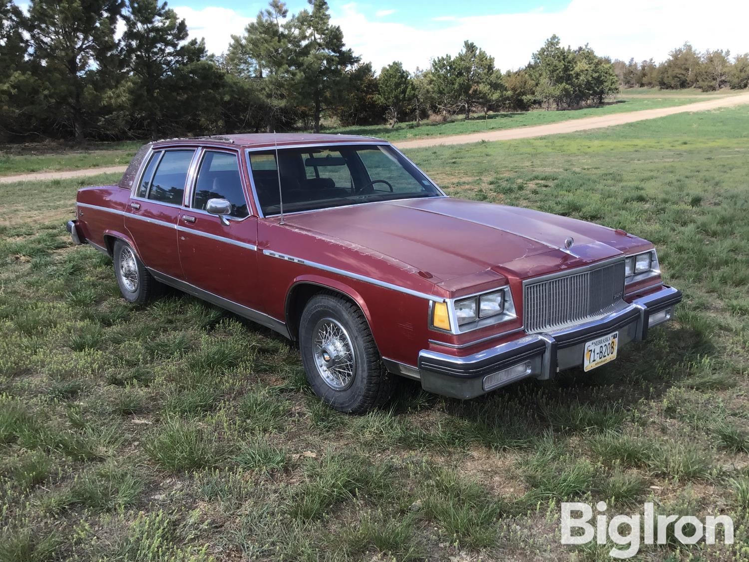
[[[451,280],[490,269],[524,279],[649,245],[581,220],[451,197],[290,214],[285,223],[389,256],[446,288]],[[574,239],[568,250],[567,238]]]

